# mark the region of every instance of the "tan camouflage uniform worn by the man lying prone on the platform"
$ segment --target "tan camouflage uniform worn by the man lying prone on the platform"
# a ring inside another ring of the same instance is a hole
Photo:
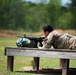
[[[51,48],[51,46],[55,49],[76,49],[76,37],[52,31],[43,41],[43,46],[39,48]]]

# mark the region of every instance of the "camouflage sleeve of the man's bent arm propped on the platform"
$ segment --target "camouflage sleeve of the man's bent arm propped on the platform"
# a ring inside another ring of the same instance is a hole
[[[45,40],[43,41],[43,46],[42,47],[38,47],[38,48],[39,49],[50,48],[52,46],[52,43],[53,43],[53,37],[54,37],[54,35],[52,33],[50,33],[48,35],[48,37],[45,38]]]

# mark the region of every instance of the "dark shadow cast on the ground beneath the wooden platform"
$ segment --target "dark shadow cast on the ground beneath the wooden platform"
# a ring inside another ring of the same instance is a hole
[[[42,70],[38,71],[15,71],[15,72],[20,72],[20,73],[32,73],[32,74],[37,74],[37,75],[61,75],[62,70],[61,69],[50,69],[50,68],[43,68]],[[70,68],[69,69],[69,75],[76,75],[76,68]]]

